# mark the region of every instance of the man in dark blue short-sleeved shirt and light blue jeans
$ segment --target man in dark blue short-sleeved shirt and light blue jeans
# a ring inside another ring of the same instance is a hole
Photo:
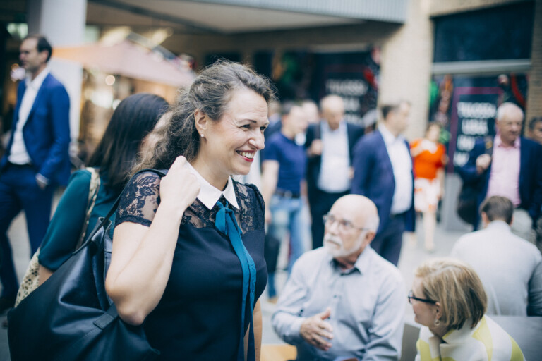
[[[289,270],[304,252],[303,200],[301,188],[306,156],[296,135],[305,133],[307,117],[300,104],[286,103],[282,110],[282,128],[265,143],[262,154],[262,195],[265,200],[267,232],[278,240],[290,235]],[[270,299],[275,298],[275,272],[268,279]]]

